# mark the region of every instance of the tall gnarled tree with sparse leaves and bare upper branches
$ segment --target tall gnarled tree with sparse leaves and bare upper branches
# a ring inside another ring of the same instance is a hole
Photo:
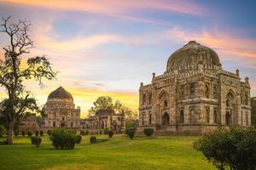
[[[20,116],[38,111],[36,99],[26,91],[24,82],[34,80],[43,86],[43,80],[55,79],[56,73],[52,70],[49,59],[36,56],[26,60],[22,65],[22,56],[29,54],[33,48],[33,41],[29,36],[31,24],[19,20],[9,23],[10,16],[3,18],[0,31],[9,39],[3,47],[4,58],[0,59],[0,87],[4,88],[7,98],[1,102],[0,115],[5,117],[7,123],[7,144],[13,144],[13,132],[15,123],[19,122]]]

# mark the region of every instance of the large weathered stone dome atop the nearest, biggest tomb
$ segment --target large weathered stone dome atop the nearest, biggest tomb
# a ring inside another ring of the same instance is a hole
[[[218,54],[200,43],[190,41],[183,48],[177,49],[167,61],[167,70],[181,65],[218,65],[221,66]]]

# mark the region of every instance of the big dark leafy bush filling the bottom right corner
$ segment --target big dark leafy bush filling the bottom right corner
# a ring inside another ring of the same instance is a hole
[[[218,169],[256,168],[256,129],[252,127],[219,128],[197,141],[194,148]]]

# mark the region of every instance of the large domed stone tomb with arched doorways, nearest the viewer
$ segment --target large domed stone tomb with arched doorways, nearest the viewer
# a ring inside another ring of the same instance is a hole
[[[163,75],[139,89],[138,133],[202,134],[216,127],[251,125],[250,85],[224,71],[218,54],[191,41],[174,52]]]

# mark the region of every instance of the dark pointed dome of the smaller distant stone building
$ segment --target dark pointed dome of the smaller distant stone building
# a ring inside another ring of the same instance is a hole
[[[72,102],[73,103],[73,97],[71,94],[69,94],[64,88],[60,87],[55,89],[55,91],[53,91],[52,93],[49,94],[48,96],[48,101],[52,100],[52,99],[63,99],[66,100],[68,102]]]

